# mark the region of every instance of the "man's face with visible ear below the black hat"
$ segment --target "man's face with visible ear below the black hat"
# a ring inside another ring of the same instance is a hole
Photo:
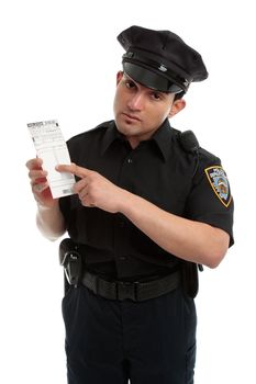
[[[182,99],[174,102],[174,93],[146,88],[121,71],[118,72],[116,82],[115,124],[132,147],[152,137],[167,117],[185,106]]]

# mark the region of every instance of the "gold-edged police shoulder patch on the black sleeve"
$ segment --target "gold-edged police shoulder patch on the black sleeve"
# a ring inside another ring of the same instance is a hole
[[[223,205],[227,207],[231,203],[231,190],[224,169],[221,166],[213,166],[204,169],[208,180],[215,195]]]

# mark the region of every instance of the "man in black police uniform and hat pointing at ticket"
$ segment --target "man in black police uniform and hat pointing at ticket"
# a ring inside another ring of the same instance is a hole
[[[73,163],[57,167],[75,194],[53,200],[42,160],[27,162],[38,228],[68,231],[70,283],[79,267],[63,301],[68,383],[191,384],[197,264],[215,268],[233,244],[233,201],[220,159],[168,118],[208,72],[171,32],[118,39],[114,121],[73,137]]]

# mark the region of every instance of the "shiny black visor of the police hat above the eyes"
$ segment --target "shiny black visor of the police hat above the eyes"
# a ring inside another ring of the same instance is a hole
[[[123,63],[123,69],[124,72],[134,81],[156,91],[169,93],[179,93],[183,91],[183,89],[181,89],[178,84],[164,76],[159,76],[145,67],[138,66],[137,64],[125,61]]]

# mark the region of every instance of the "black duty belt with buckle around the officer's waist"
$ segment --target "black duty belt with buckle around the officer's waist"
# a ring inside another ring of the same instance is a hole
[[[174,272],[149,282],[107,281],[85,271],[80,282],[96,295],[109,300],[143,302],[176,290],[180,285],[180,272]]]

